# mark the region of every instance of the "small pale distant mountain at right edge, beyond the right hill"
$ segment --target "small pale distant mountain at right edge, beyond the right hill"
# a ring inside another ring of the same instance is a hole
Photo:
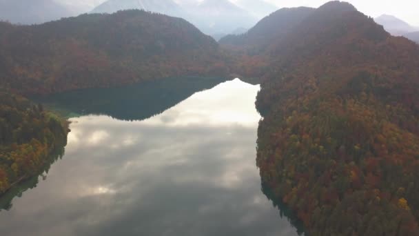
[[[391,35],[400,36],[405,35],[408,32],[418,31],[418,28],[410,26],[409,23],[388,14],[382,14],[374,20],[378,24],[384,26],[385,30]]]

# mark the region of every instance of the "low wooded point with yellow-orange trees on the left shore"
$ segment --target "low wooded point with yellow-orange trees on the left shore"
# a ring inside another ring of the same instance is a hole
[[[0,195],[37,176],[49,157],[67,143],[65,121],[41,105],[0,91]]]

